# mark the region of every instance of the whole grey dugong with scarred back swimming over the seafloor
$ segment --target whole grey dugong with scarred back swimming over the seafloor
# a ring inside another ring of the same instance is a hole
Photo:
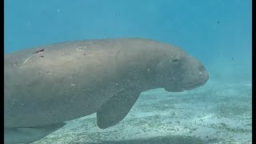
[[[184,50],[145,38],[62,42],[6,54],[5,142],[34,142],[93,113],[106,129],[126,117],[143,91],[192,90],[208,78],[205,66]]]

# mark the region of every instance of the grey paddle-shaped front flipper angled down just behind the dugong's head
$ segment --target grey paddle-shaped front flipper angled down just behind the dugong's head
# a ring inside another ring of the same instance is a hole
[[[106,129],[122,121],[132,106],[134,106],[140,93],[137,89],[129,88],[119,92],[105,102],[97,111],[98,127]]]

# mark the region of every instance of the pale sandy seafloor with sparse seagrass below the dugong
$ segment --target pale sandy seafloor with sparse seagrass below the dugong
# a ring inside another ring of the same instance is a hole
[[[251,106],[250,82],[207,82],[182,93],[149,90],[115,126],[101,130],[91,114],[33,144],[250,143]]]

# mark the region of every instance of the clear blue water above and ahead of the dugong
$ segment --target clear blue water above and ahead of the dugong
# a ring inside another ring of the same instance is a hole
[[[53,42],[152,38],[200,59],[210,82],[251,85],[251,0],[5,0],[5,54]]]

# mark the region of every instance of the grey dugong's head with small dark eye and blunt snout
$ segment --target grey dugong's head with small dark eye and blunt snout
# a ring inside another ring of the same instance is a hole
[[[158,81],[169,92],[192,90],[209,78],[205,66],[185,51],[172,47],[158,65]]]

